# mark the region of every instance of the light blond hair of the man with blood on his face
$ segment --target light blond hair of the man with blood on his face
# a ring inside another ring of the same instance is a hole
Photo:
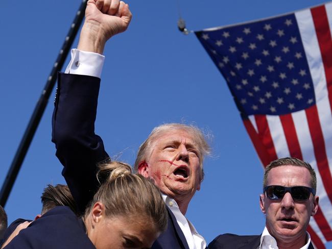
[[[153,142],[155,142],[160,136],[164,135],[165,133],[173,132],[173,131],[185,131],[189,135],[191,135],[194,139],[194,142],[198,146],[199,150],[199,161],[201,167],[201,181],[204,178],[204,171],[203,171],[203,160],[205,156],[210,155],[211,149],[208,145],[205,135],[203,132],[196,126],[193,125],[186,125],[182,123],[165,123],[161,124],[158,127],[155,127],[152,132],[150,133],[147,140],[145,140],[138,149],[137,158],[134,164],[134,169],[137,172],[138,165],[141,162],[147,161],[152,152]]]

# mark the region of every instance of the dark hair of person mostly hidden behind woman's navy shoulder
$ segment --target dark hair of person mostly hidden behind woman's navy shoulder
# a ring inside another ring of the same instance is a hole
[[[67,185],[57,184],[53,186],[48,184],[47,187],[44,188],[40,198],[42,203],[42,215],[56,206],[67,206],[78,215],[76,203]]]

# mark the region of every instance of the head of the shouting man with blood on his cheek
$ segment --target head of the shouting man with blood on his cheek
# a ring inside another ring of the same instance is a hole
[[[134,168],[175,198],[192,198],[203,181],[203,160],[210,154],[204,134],[195,126],[162,124],[140,145]]]

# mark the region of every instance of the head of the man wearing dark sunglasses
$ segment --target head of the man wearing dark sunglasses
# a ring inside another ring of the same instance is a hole
[[[266,167],[260,209],[278,244],[305,244],[310,217],[318,209],[316,185],[314,169],[299,159],[281,158]]]

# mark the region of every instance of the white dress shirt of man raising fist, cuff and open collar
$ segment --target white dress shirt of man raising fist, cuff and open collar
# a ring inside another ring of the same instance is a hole
[[[70,60],[65,73],[81,74],[101,78],[105,56],[97,53],[72,49]],[[190,249],[204,249],[206,241],[199,235],[193,224],[180,212],[177,203],[167,195],[162,194],[165,204],[174,214]]]

